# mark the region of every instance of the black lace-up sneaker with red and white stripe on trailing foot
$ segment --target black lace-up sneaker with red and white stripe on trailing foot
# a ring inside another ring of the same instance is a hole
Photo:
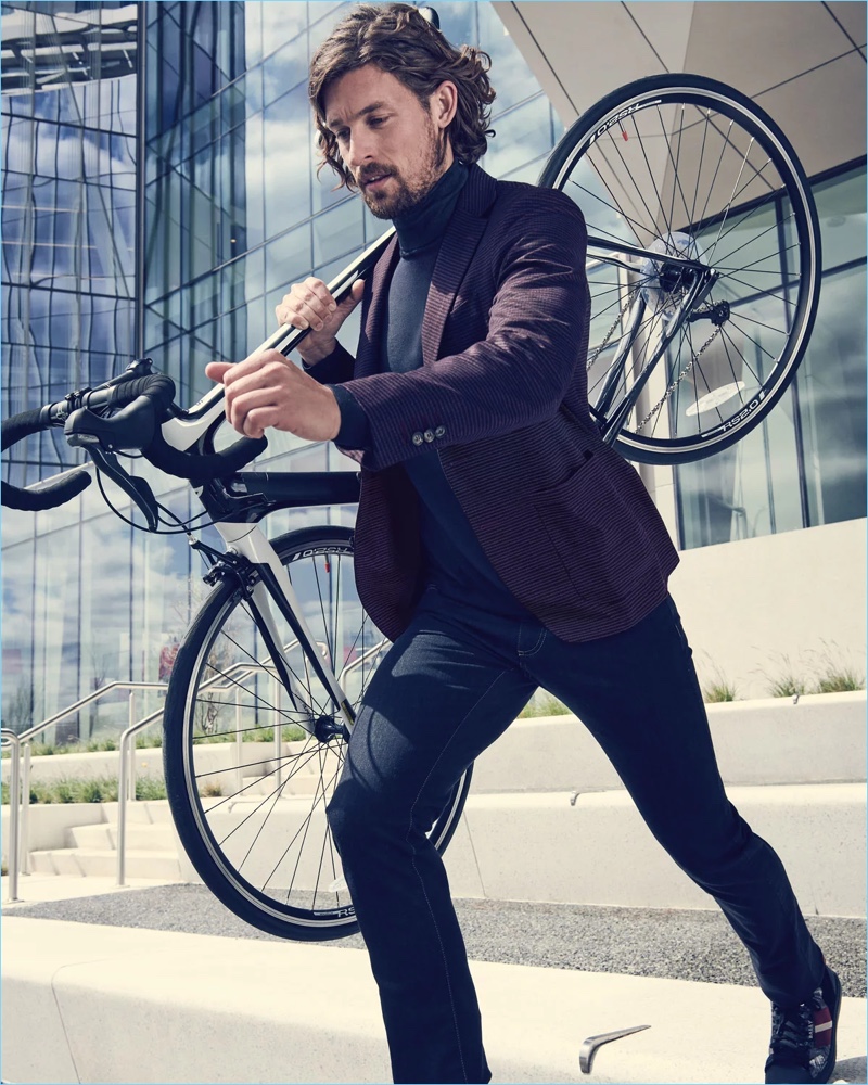
[[[771,1045],[766,1085],[828,1082],[834,1070],[841,981],[827,967],[809,1003],[792,1009],[771,1005]]]

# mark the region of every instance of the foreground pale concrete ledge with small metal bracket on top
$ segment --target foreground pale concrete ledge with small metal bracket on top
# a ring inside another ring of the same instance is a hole
[[[4,1078],[29,1082],[386,1082],[367,955],[4,917]],[[756,1082],[757,990],[473,962],[495,1082]],[[722,1026],[722,1022],[725,1023]],[[737,1044],[732,1037],[738,1036]],[[865,1078],[865,999],[844,999],[834,1080]],[[674,1054],[675,1052],[675,1054]]]

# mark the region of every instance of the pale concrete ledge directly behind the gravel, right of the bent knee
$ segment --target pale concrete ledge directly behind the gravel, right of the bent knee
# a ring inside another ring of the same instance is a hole
[[[728,788],[778,852],[806,914],[864,916],[866,795],[858,783]],[[455,896],[715,908],[653,839],[625,791],[471,794],[446,853]]]

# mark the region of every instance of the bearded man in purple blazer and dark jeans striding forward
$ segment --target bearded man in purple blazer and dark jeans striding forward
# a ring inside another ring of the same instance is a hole
[[[354,450],[359,595],[394,641],[329,808],[396,1082],[487,1082],[480,1011],[425,832],[544,686],[590,728],[651,831],[711,893],[773,1001],[767,1082],[826,1082],[840,984],[780,860],[728,803],[666,590],[677,554],[587,408],[585,228],[561,193],[475,165],[487,58],[407,4],[360,5],[311,64],[326,163],[397,242],[335,305],[316,279],[276,354],[213,363],[240,432]],[[355,358],[335,334],[362,303]],[[737,1043],[737,1038],[733,1039]]]

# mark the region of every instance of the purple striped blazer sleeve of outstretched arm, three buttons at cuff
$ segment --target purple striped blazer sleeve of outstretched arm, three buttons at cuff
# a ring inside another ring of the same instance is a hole
[[[431,436],[434,447],[465,444],[559,409],[589,317],[582,213],[562,193],[532,189],[500,221],[489,221],[486,235],[498,253],[480,341],[407,373],[375,373],[344,385],[370,425],[363,467],[379,471],[407,460],[432,447]]]

